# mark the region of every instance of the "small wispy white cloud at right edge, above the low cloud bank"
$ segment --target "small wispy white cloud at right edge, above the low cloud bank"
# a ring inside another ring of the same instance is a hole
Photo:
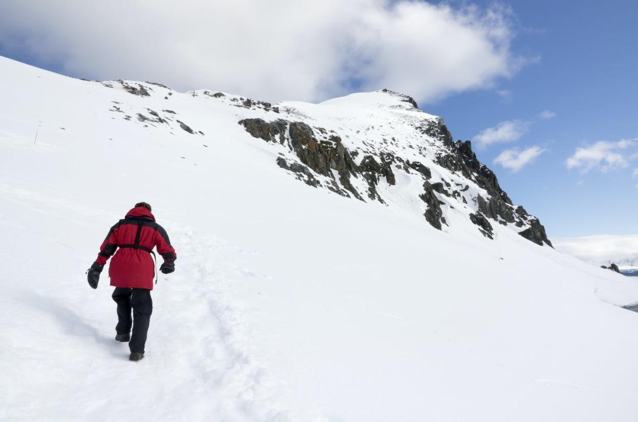
[[[621,169],[629,164],[625,158],[623,149],[635,146],[638,139],[623,139],[618,142],[600,140],[586,147],[576,148],[576,151],[567,159],[565,165],[568,169],[579,168],[582,172],[597,169],[607,172],[613,169]]]

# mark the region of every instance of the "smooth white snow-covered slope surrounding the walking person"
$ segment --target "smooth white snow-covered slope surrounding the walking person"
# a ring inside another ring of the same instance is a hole
[[[0,93],[0,419],[634,417],[638,314],[614,305],[638,287],[519,236],[545,243],[408,97],[269,105],[3,58]],[[84,271],[140,200],[178,259],[131,363]]]

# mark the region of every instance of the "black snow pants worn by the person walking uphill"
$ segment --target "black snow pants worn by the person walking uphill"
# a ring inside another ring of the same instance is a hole
[[[112,298],[117,303],[115,331],[117,334],[128,334],[132,326],[133,333],[128,347],[131,353],[144,353],[144,344],[153,312],[151,290],[115,287]],[[133,319],[131,319],[131,310],[133,310]]]

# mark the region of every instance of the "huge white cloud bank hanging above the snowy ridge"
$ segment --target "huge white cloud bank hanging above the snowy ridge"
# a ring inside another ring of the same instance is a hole
[[[93,79],[318,101],[383,87],[430,101],[524,64],[504,6],[413,0],[3,1],[5,49]]]

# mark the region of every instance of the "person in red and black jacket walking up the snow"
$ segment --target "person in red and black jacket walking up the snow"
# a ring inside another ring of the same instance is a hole
[[[155,263],[151,254],[155,255],[152,251],[154,247],[157,247],[159,255],[164,259],[159,271],[164,274],[175,271],[177,255],[170,246],[166,230],[155,222],[151,206],[146,202],[138,202],[126,213],[124,219],[111,227],[107,238],[100,246],[98,259],[87,270],[89,285],[97,289],[102,268],[115,253],[108,268],[111,285],[115,287],[112,297],[117,303],[115,340],[130,342],[131,361],[144,358],[144,345],[153,310],[151,290],[155,277]]]

